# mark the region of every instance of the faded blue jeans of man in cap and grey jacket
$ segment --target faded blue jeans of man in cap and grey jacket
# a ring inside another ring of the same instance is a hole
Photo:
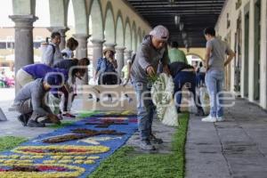
[[[156,110],[151,100],[150,86],[144,83],[135,83],[137,104],[138,130],[141,140],[149,140],[152,133],[153,116]]]

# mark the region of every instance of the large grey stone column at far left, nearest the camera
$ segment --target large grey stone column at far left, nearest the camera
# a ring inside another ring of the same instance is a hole
[[[33,22],[38,18],[34,15],[11,15],[15,22],[15,74],[28,64],[34,63]],[[16,83],[16,93],[20,86]]]

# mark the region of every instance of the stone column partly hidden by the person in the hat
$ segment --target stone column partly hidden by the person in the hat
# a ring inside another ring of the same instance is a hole
[[[91,42],[93,44],[93,70],[95,70],[97,60],[103,56],[103,43],[105,41],[100,39],[92,39]]]

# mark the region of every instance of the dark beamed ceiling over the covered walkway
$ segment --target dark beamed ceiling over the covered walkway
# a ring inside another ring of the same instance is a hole
[[[127,1],[150,23],[151,27],[158,24],[166,26],[170,31],[170,40],[177,41],[181,47],[184,47],[185,44],[188,44],[189,47],[204,47],[206,41],[203,29],[214,27],[225,0]],[[180,24],[183,24],[182,30],[180,30],[180,26],[182,26]],[[185,32],[183,37],[182,32]]]

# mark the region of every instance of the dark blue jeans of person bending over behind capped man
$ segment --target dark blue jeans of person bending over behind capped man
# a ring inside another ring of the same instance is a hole
[[[193,94],[195,104],[198,110],[202,109],[200,106],[199,97],[196,95],[196,75],[194,72],[181,71],[174,77],[174,93],[176,94],[176,109],[180,111],[180,105],[182,102],[182,86],[190,85],[188,87],[190,93]],[[178,93],[177,93],[178,92]]]

